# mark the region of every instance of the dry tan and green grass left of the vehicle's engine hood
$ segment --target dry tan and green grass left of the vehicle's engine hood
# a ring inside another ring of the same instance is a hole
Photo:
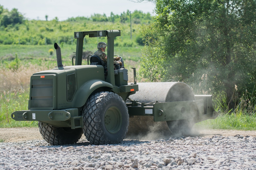
[[[45,65],[49,64],[20,64],[15,70],[5,65],[0,68],[0,127],[37,125],[34,122],[16,122],[10,115],[14,111],[28,109],[30,76],[35,72],[48,70]]]

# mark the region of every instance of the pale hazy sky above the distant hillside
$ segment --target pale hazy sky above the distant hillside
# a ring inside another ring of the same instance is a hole
[[[9,11],[17,8],[27,19],[48,20],[58,17],[59,21],[71,17],[90,17],[93,14],[110,13],[120,15],[127,10],[141,10],[153,15],[155,5],[151,2],[135,3],[128,0],[0,0],[0,5]]]

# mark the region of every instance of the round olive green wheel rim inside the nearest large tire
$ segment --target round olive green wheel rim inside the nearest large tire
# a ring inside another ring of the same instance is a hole
[[[115,106],[108,108],[105,113],[104,122],[106,129],[110,133],[117,133],[121,129],[122,125],[122,114],[120,110]]]

